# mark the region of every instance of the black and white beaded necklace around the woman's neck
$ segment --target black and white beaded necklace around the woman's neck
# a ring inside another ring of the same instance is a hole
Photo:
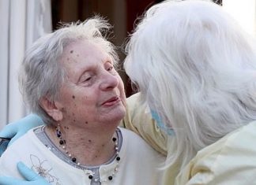
[[[72,154],[70,154],[70,152],[68,150],[66,150],[66,140],[62,138],[62,131],[60,131],[60,126],[58,125],[58,127],[56,128],[56,135],[58,138],[58,143],[60,145],[60,147],[62,147],[62,150],[64,150],[65,154],[70,157],[71,161],[73,161],[73,163],[75,163],[76,165],[80,166],[80,162],[77,161],[77,157],[74,157]],[[121,160],[121,157],[119,156],[119,141],[118,139],[116,139],[115,137],[112,138],[112,141],[115,142],[115,160],[116,165],[114,168],[114,172],[111,173],[110,176],[107,177],[108,180],[112,180],[113,177],[115,177],[115,174],[117,172],[119,172],[119,161]],[[90,170],[84,170],[85,174],[88,176],[88,179],[93,179],[94,176],[94,172],[90,171]],[[106,182],[107,179],[94,179],[95,182]]]

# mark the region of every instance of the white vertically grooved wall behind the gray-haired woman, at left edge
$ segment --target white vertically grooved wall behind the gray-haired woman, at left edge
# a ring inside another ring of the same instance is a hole
[[[17,72],[24,51],[51,31],[51,0],[0,0],[0,129],[24,117]]]

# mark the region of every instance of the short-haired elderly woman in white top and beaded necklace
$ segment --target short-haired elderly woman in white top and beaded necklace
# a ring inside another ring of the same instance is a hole
[[[45,126],[13,142],[0,158],[1,176],[21,178],[18,161],[51,184],[161,184],[163,157],[118,128],[126,95],[118,57],[96,17],[40,38],[27,51],[20,84]]]

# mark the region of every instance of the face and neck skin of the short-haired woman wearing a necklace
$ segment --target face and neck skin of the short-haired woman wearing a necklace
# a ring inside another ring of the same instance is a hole
[[[90,164],[93,158],[97,158],[96,164],[105,162],[115,152],[111,137],[126,113],[122,79],[111,56],[88,40],[66,46],[59,62],[68,78],[59,90],[55,105],[61,128],[72,124],[72,129],[62,130],[68,141],[66,148],[73,151],[81,164]],[[53,135],[58,143],[55,128],[47,134]]]

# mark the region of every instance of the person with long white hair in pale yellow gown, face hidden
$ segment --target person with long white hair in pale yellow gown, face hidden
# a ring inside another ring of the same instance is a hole
[[[123,124],[167,152],[165,184],[256,182],[255,39],[211,1],[169,0],[145,13],[126,49],[141,93]],[[143,124],[149,113],[157,127]]]

